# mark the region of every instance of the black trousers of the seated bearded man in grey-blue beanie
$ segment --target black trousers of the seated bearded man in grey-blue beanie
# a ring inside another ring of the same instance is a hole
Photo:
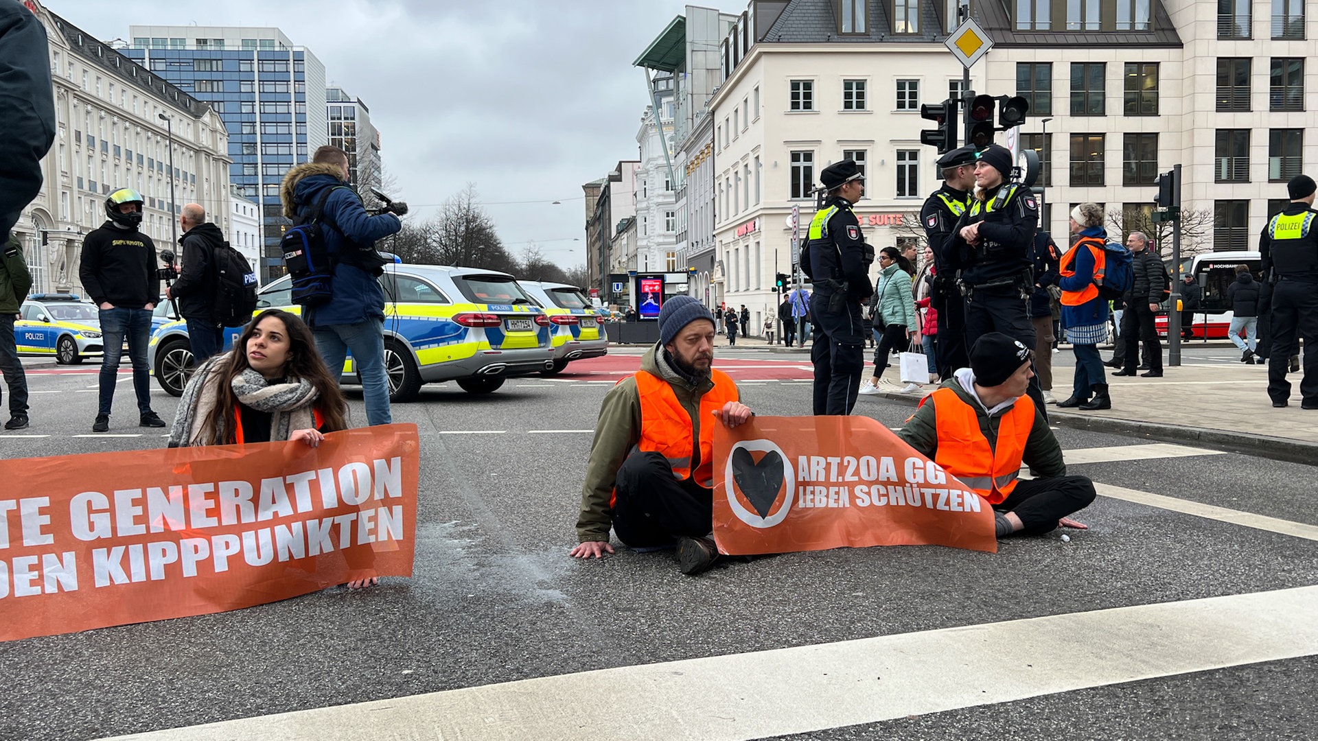
[[[627,546],[667,546],[680,535],[702,538],[713,529],[713,492],[676,480],[658,452],[629,455],[614,487],[613,531]]]

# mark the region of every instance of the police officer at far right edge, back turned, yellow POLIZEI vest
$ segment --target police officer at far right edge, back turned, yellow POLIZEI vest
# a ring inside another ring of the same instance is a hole
[[[1272,406],[1286,406],[1290,381],[1286,364],[1296,352],[1296,336],[1305,339],[1305,367],[1300,381],[1302,409],[1318,409],[1318,211],[1314,179],[1296,175],[1286,183],[1290,204],[1268,222],[1259,237],[1263,273],[1276,278],[1272,290],[1272,347],[1268,355],[1268,396]]]

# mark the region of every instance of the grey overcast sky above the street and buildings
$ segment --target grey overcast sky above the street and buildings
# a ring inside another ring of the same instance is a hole
[[[476,183],[509,251],[583,264],[581,185],[637,157],[647,104],[633,59],[680,0],[47,0],[103,41],[128,26],[278,26],[361,98],[385,171],[426,218]],[[708,4],[717,7],[714,4]],[[724,11],[745,9],[726,3]],[[561,200],[561,206],[551,202]],[[530,203],[505,203],[530,202]]]

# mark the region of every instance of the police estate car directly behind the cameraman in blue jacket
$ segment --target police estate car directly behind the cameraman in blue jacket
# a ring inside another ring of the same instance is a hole
[[[385,369],[390,401],[410,401],[422,384],[455,381],[473,394],[497,390],[503,380],[554,369],[551,322],[513,276],[478,268],[385,265]],[[257,294],[257,312],[293,303],[285,276]],[[241,327],[224,330],[229,349]],[[187,326],[170,322],[152,335],[146,352],[152,373],[167,393],[179,396],[192,353]],[[360,382],[349,356],[344,382]]]

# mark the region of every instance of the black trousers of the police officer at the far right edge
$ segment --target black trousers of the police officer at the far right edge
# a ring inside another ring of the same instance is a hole
[[[1282,278],[1272,289],[1272,345],[1268,348],[1268,396],[1290,398],[1286,369],[1296,355],[1296,339],[1305,340],[1300,397],[1306,407],[1318,407],[1318,282]]]

